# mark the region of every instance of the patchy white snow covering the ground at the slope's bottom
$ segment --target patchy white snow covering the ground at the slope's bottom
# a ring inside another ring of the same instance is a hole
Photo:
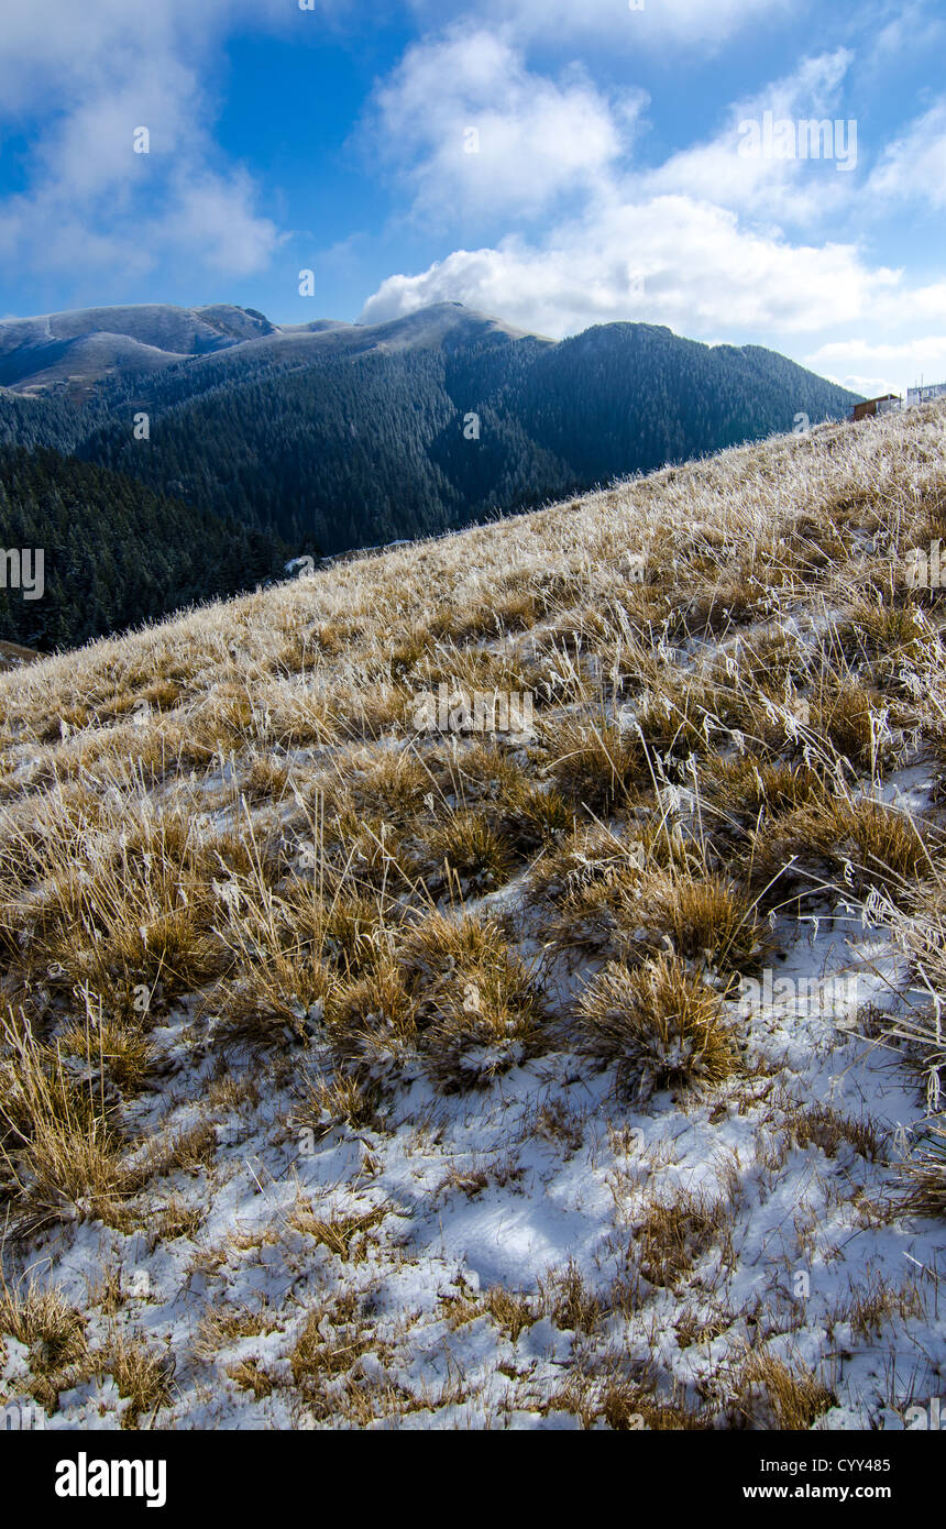
[[[605,1427],[593,1414],[608,1378],[637,1373],[657,1398],[698,1407],[738,1373],[761,1323],[770,1353],[834,1391],[818,1427],[899,1428],[908,1407],[941,1394],[946,1353],[946,1234],[889,1209],[889,1164],[923,1115],[915,1081],[877,1040],[876,1011],[896,1008],[905,980],[889,940],[839,905],[773,963],[782,1001],[741,1020],[749,1075],[711,1101],[663,1093],[628,1107],[607,1072],[552,1053],[458,1099],[419,1078],[382,1130],[319,1121],[295,1070],[289,1089],[208,1116],[215,1061],[179,1012],[154,1035],[164,1086],[130,1124],[147,1138],[212,1121],[212,1168],[171,1176],[153,1206],[157,1219],[173,1205],[182,1225],[194,1212],[199,1234],[70,1225],[35,1271],[55,1269],[89,1310],[90,1339],[109,1327],[90,1290],[104,1272],[121,1280],[122,1329],[174,1358],[160,1420],[177,1427],[312,1420],[290,1356],[316,1310],[326,1352],[350,1349],[319,1379],[339,1423],[350,1411],[361,1425],[374,1413],[376,1427]],[[312,1047],[306,1069],[321,1064]],[[799,1144],[799,1105],[868,1125],[877,1161],[831,1133]],[[689,1237],[671,1289],[640,1278],[636,1240],[648,1209],[682,1194],[718,1211]],[[367,1220],[347,1255],[312,1226],[352,1217]],[[489,1309],[495,1287],[524,1298],[515,1339]],[[587,1307],[578,1329],[570,1292]],[[229,1309],[257,1313],[261,1330],[196,1358],[202,1320]],[[29,1356],[14,1339],[6,1349],[17,1398]],[[267,1394],[228,1376],[240,1364],[267,1378]],[[367,1411],[345,1399],[352,1387]],[[87,1381],[46,1427],[115,1428],[124,1405],[109,1378]]]

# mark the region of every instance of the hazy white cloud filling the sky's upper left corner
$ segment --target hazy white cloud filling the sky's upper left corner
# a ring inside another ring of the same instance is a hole
[[[212,142],[202,66],[240,15],[278,0],[5,0],[0,122],[34,131],[26,190],[0,202],[0,252],[57,277],[141,277],[186,257],[246,275],[278,245],[258,191]],[[49,106],[52,104],[52,110]],[[150,130],[150,153],[133,135]]]

